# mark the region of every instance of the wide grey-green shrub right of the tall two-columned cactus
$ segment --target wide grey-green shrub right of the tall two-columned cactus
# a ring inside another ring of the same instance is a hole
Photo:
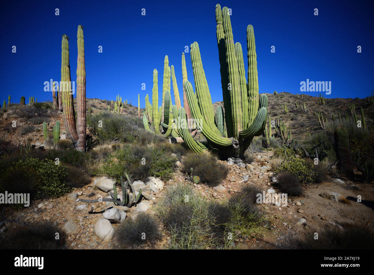
[[[99,121],[102,127],[99,127]],[[116,115],[109,112],[101,112],[87,117],[92,134],[100,143],[105,142],[134,142],[141,129],[144,129],[143,121],[139,117],[128,115]]]

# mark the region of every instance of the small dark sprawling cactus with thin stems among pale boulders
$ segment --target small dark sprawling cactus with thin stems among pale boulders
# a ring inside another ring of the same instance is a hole
[[[122,188],[122,200],[120,200],[117,197],[117,188],[116,188],[115,183],[113,184],[113,193],[109,192],[109,194],[112,198],[99,198],[99,199],[96,199],[96,200],[84,200],[84,199],[79,199],[79,200],[82,201],[82,203],[98,203],[100,201],[111,201],[115,205],[126,206],[126,207],[132,207],[134,204],[139,203],[140,200],[141,200],[141,189],[139,189],[139,194],[135,195],[135,189],[134,189],[134,186],[132,185],[132,183],[129,179],[128,174],[126,172],[124,174],[125,174],[126,179],[127,179],[127,181],[125,183],[123,182],[123,177],[120,176],[120,182],[121,182],[121,188]],[[131,199],[129,198],[129,194],[127,192],[128,188],[130,189],[130,191],[132,193]]]

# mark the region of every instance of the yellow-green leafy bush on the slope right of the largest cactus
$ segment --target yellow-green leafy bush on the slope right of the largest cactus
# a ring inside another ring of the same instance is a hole
[[[291,157],[275,167],[274,173],[290,173],[300,180],[301,183],[312,183],[315,179],[315,173],[308,166],[307,162],[301,158]]]

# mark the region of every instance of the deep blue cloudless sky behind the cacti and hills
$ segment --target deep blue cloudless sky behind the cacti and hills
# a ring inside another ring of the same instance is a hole
[[[161,102],[163,60],[168,55],[183,100],[181,55],[186,45],[197,41],[212,101],[221,101],[217,3],[232,9],[234,41],[242,44],[246,68],[246,27],[254,26],[260,93],[301,93],[300,81],[307,78],[331,81],[327,98],[365,98],[374,89],[370,1],[7,1],[0,16],[0,104],[9,94],[12,102],[21,96],[26,102],[29,96],[52,100],[43,83],[61,80],[62,34],[70,37],[71,79],[76,81],[79,24],[84,27],[87,98],[110,100],[119,93],[137,105],[140,93],[144,107],[156,68]],[[318,16],[313,15],[315,8]],[[273,45],[275,53],[270,52]],[[362,53],[357,53],[358,45]],[[193,82],[189,53],[186,63]]]

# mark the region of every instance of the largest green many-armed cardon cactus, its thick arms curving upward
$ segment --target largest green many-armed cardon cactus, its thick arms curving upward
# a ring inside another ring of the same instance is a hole
[[[217,42],[220,60],[221,84],[225,109],[227,137],[223,137],[214,123],[212,99],[202,66],[199,45],[190,46],[190,56],[195,82],[195,93],[190,81],[184,82],[188,105],[197,123],[197,127],[223,157],[232,163],[244,166],[241,158],[254,136],[260,136],[265,129],[267,119],[267,96],[258,95],[257,56],[252,25],[247,27],[248,83],[246,83],[243,52],[240,43],[233,42],[229,10],[216,6]],[[181,111],[182,110],[182,111]],[[179,114],[186,117],[184,109]],[[180,132],[185,133],[186,131]],[[186,139],[191,137],[181,134]],[[195,142],[193,140],[193,142]],[[186,142],[188,145],[188,142]],[[196,144],[197,142],[193,143]],[[190,146],[201,151],[200,144]],[[191,149],[193,149],[191,148]],[[194,150],[195,151],[195,150]]]

